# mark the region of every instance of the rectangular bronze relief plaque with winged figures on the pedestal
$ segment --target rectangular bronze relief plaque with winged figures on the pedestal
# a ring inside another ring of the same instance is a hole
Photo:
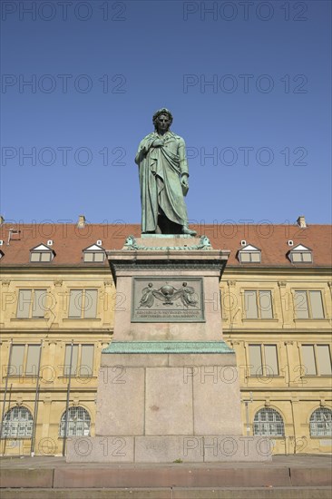
[[[132,278],[132,322],[205,322],[202,278]]]

